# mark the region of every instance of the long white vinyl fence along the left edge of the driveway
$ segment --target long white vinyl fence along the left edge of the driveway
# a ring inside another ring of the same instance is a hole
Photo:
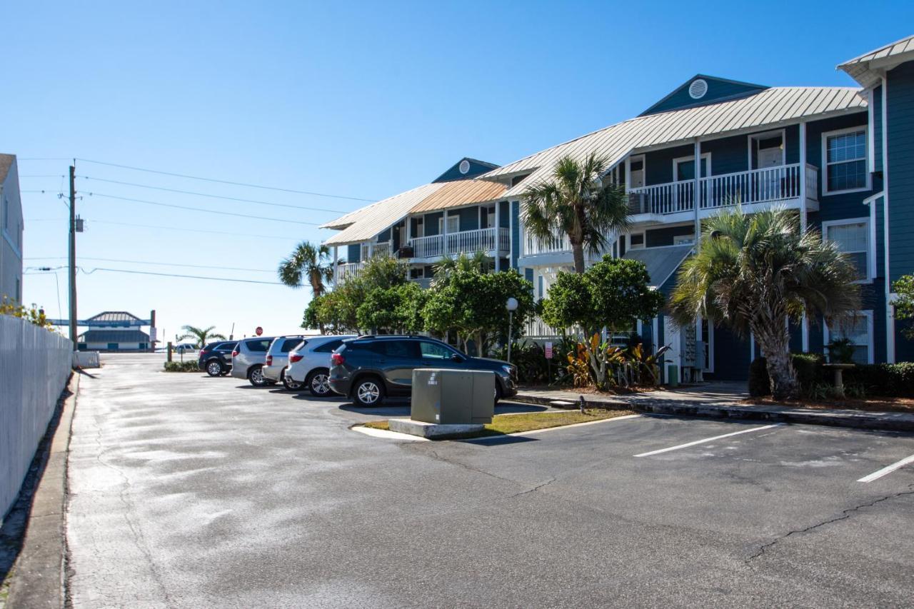
[[[73,343],[0,315],[0,520],[16,501],[69,377]]]

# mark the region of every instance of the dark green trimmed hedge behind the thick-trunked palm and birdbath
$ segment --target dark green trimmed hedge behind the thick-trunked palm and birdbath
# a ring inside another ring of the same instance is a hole
[[[834,382],[832,371],[824,368],[818,353],[792,353],[791,361],[804,394],[816,385]],[[892,398],[914,398],[914,362],[900,364],[857,364],[843,374],[845,387],[858,386],[867,395]],[[759,398],[771,395],[771,381],[765,358],[755,358],[749,365],[749,395]]]

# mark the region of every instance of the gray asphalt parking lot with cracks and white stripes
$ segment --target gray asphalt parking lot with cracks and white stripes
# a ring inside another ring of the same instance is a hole
[[[643,416],[390,441],[348,428],[405,404],[166,374],[162,358],[109,356],[81,379],[74,606],[914,598],[911,434]]]

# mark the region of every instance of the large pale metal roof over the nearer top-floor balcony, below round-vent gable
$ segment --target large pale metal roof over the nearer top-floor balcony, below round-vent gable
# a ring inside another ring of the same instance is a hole
[[[865,108],[866,98],[853,87],[772,87],[738,100],[648,114],[616,123],[501,166],[477,179],[497,179],[533,171],[524,182],[505,192],[505,197],[515,197],[531,183],[547,178],[564,155],[583,158],[595,151],[607,157],[613,166],[629,153],[652,146],[686,143],[708,135],[737,134],[802,118],[821,118]]]

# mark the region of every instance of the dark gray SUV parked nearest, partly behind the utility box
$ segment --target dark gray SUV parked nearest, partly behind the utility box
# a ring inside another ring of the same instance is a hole
[[[494,400],[517,393],[517,369],[500,359],[471,358],[427,337],[357,337],[331,356],[330,387],[360,406],[377,406],[387,396],[409,396],[417,368],[492,370]]]

